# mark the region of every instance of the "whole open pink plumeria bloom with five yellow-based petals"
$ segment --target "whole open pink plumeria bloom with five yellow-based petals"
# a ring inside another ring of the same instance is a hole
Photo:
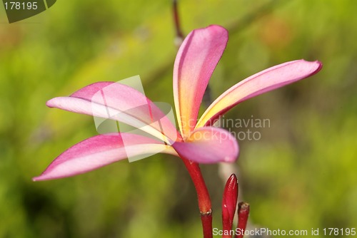
[[[216,120],[243,100],[312,76],[322,65],[298,60],[256,73],[226,90],[197,120],[203,93],[227,41],[228,31],[212,25],[191,31],[181,44],[173,82],[179,131],[145,95],[121,83],[94,83],[69,97],[49,100],[46,104],[50,108],[117,120],[153,137],[120,132],[96,135],[63,152],[34,180],[79,175],[129,155],[156,152],[198,163],[234,162],[238,157],[236,138],[227,130],[213,127]]]

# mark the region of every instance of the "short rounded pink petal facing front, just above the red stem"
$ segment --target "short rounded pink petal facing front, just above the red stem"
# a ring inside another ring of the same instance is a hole
[[[172,145],[181,157],[203,164],[234,162],[238,143],[227,130],[204,127],[194,130],[186,142]]]

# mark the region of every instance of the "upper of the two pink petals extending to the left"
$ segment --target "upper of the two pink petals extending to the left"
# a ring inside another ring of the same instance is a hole
[[[50,108],[118,120],[168,143],[181,138],[169,118],[149,98],[120,83],[93,83],[69,97],[53,98],[46,104]]]

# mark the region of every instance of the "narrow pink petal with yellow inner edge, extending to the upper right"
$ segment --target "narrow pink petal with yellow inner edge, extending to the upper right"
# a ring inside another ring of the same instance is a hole
[[[290,61],[256,73],[237,83],[219,96],[203,113],[196,128],[213,125],[219,116],[238,103],[270,90],[281,88],[318,73],[322,64],[318,61]]]

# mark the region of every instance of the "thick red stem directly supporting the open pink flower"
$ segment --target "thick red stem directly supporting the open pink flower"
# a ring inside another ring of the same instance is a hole
[[[203,238],[212,238],[212,208],[211,198],[209,197],[206,183],[203,180],[201,169],[196,162],[182,158],[188,173],[191,176],[193,185],[196,188],[198,208],[201,213],[201,222],[203,228]]]

